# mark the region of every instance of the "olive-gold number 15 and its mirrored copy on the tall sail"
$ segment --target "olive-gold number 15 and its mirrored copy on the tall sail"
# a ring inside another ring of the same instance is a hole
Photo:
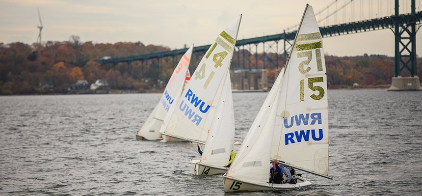
[[[317,48],[315,50],[316,56],[317,56],[317,70],[318,72],[323,71],[322,70],[322,60],[321,60],[321,49]],[[307,57],[307,60],[304,60],[299,63],[299,72],[303,75],[311,71],[311,67],[307,66],[305,69],[305,65],[309,65],[309,63],[312,60],[312,50],[311,51],[304,51],[297,53],[297,57]],[[314,85],[314,83],[321,83],[324,82],[323,77],[314,77],[314,78],[308,78],[308,88],[311,90],[318,91],[318,94],[312,94],[310,97],[314,100],[320,100],[324,97],[325,91],[324,88],[318,85]],[[300,88],[300,97],[299,101],[305,101],[305,93],[304,93],[304,80],[300,80],[299,82],[299,88]]]

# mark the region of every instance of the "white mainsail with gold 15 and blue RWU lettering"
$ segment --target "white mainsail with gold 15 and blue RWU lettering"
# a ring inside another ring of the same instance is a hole
[[[271,158],[328,175],[327,71],[312,6],[299,28],[282,84]]]

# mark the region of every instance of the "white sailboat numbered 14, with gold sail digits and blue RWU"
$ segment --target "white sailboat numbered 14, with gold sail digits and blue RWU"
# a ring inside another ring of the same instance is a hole
[[[230,63],[241,15],[218,34],[186,84],[161,134],[205,144],[200,160],[191,161],[196,175],[225,173],[235,134]]]

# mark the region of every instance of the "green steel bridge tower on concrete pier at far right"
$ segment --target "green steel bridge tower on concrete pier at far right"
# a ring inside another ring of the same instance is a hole
[[[416,67],[416,22],[401,23],[398,13],[398,0],[395,1],[394,35],[395,57],[394,77],[388,90],[422,90]],[[415,17],[415,0],[411,2],[412,17]],[[406,69],[411,77],[401,77],[401,71]]]

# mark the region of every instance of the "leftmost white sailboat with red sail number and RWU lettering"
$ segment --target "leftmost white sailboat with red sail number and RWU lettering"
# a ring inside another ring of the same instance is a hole
[[[175,104],[182,94],[185,80],[187,79],[186,76],[189,72],[188,67],[192,56],[192,50],[193,46],[191,46],[180,59],[164,89],[164,93],[162,94],[159,103],[136,134],[136,140],[161,140],[159,130],[165,116],[175,107]]]

